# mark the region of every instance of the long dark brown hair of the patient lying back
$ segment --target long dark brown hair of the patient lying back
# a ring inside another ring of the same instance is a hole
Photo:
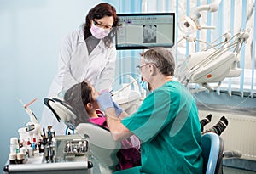
[[[87,82],[81,82],[70,87],[64,95],[64,101],[76,110],[77,119],[74,125],[81,122],[88,122],[89,116],[85,110],[85,105],[92,102],[91,87]]]

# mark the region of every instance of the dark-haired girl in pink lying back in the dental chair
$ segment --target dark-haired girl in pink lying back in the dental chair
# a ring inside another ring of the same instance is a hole
[[[96,101],[97,93],[94,87],[87,82],[81,82],[69,88],[64,95],[64,101],[76,109],[79,120],[85,120],[97,125],[108,127],[106,118]],[[75,126],[79,121],[75,121]],[[119,170],[141,165],[140,142],[136,136],[131,136],[121,142],[122,149],[117,153]]]

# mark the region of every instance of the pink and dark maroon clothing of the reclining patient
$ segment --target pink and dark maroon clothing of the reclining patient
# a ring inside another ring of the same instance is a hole
[[[102,111],[96,110],[96,113],[99,115],[99,117],[90,118],[90,122],[95,123],[96,125],[108,127],[106,117],[103,115]],[[121,143],[122,149],[120,149],[117,153],[120,170],[140,166],[141,154],[139,151],[139,139],[133,135],[130,138],[122,140]]]

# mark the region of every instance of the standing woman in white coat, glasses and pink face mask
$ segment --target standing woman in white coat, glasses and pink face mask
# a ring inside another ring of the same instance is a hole
[[[113,36],[118,25],[116,10],[110,4],[100,3],[90,9],[81,29],[67,35],[61,44],[58,73],[49,97],[56,97],[81,81],[89,81],[98,92],[111,89],[116,60]],[[81,122],[87,119],[84,117]],[[41,126],[49,125],[56,134],[64,134],[66,126],[44,108]]]

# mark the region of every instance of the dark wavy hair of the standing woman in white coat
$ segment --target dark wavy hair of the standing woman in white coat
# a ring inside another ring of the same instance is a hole
[[[105,45],[107,47],[110,47],[111,43],[113,43],[113,37],[115,35],[115,32],[117,31],[117,27],[119,26],[119,18],[116,14],[115,8],[108,3],[99,3],[94,8],[90,9],[89,13],[85,18],[84,40],[91,36],[90,20],[102,19],[105,16],[113,16],[112,30],[110,31],[108,36],[103,38]]]

